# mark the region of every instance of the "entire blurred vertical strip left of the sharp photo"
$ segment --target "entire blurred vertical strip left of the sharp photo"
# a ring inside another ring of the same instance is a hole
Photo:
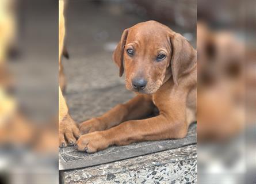
[[[58,3],[0,1],[0,183],[58,183]]]

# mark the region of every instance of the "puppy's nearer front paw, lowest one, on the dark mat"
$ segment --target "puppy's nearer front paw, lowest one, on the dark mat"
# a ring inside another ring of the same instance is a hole
[[[93,132],[82,135],[77,140],[77,148],[79,151],[94,153],[109,147],[109,140],[105,138],[102,132]]]

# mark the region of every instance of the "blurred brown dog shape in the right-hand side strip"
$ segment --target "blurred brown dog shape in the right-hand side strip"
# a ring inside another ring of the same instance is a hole
[[[228,32],[197,24],[198,140],[226,140],[244,123],[243,47]]]

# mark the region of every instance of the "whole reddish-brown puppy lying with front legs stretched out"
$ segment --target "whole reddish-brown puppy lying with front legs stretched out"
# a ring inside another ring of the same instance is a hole
[[[185,137],[196,121],[197,60],[188,41],[159,22],[142,22],[124,30],[113,59],[120,76],[125,70],[125,86],[137,96],[83,122],[80,130],[88,134],[78,139],[78,150]],[[155,106],[159,116],[139,120]]]

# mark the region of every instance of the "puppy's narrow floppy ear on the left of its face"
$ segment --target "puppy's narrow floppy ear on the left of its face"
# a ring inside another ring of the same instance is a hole
[[[113,60],[117,64],[117,66],[119,66],[119,76],[122,76],[124,74],[123,59],[124,59],[124,46],[127,39],[127,35],[128,35],[128,29],[125,29],[121,36],[121,40],[119,41],[119,44],[117,45],[113,53]]]

